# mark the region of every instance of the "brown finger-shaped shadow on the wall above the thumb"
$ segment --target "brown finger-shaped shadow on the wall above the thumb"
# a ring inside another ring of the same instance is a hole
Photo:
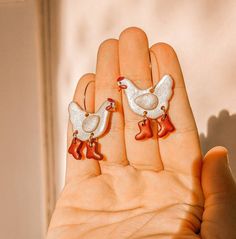
[[[229,152],[229,161],[236,178],[236,114],[222,110],[219,116],[211,116],[208,120],[207,135],[200,134],[204,154],[214,146],[224,146]]]

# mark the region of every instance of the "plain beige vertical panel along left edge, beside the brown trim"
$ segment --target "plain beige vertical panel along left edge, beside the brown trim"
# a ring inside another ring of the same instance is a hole
[[[36,1],[0,1],[0,238],[42,239],[44,193]]]

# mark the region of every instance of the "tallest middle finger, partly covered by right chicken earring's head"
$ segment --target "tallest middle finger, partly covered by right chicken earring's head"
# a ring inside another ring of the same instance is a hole
[[[135,85],[146,89],[152,86],[150,57],[146,34],[135,27],[124,30],[119,38],[119,61],[121,76],[132,80]],[[152,125],[154,136],[147,140],[138,141],[138,122],[141,116],[136,115],[128,106],[127,98],[123,95],[123,110],[125,116],[126,153],[129,163],[138,169],[162,170],[157,130]]]

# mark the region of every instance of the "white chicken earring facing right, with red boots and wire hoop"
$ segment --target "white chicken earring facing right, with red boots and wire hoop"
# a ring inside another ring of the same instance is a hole
[[[93,82],[93,81],[91,81]],[[86,110],[86,90],[84,92],[84,110],[75,102],[69,104],[70,121],[73,126],[73,139],[68,149],[75,159],[82,159],[82,150],[85,143],[86,158],[101,160],[103,155],[99,152],[98,138],[101,137],[109,123],[110,112],[115,110],[115,101],[108,98],[95,113]]]

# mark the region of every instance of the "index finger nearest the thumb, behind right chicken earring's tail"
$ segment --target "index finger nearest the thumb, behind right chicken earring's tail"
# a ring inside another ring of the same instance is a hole
[[[165,43],[153,45],[150,51],[154,82],[157,83],[165,74],[174,80],[168,114],[176,130],[159,139],[164,169],[200,177],[202,156],[199,136],[177,55]]]

